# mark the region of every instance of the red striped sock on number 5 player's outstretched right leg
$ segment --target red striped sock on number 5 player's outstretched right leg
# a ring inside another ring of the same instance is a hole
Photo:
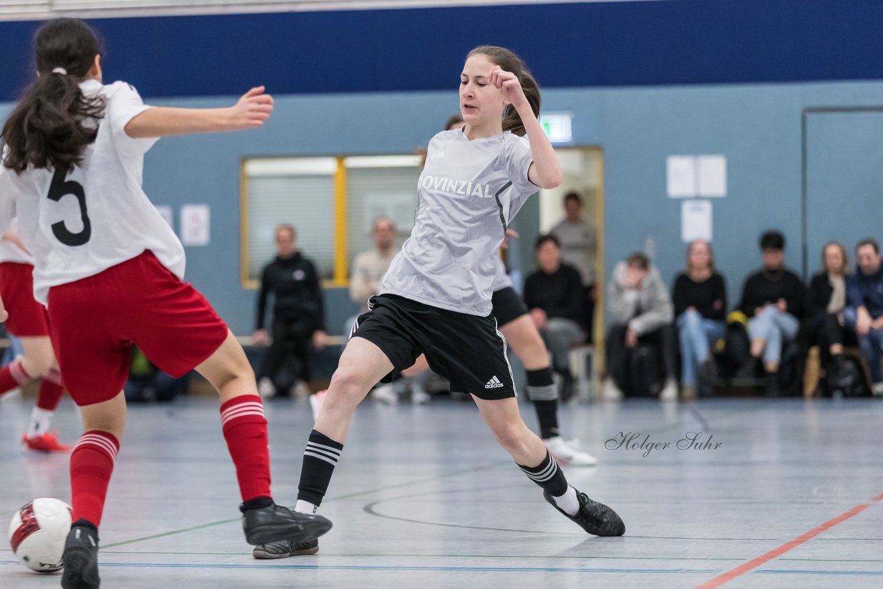
[[[223,437],[233,464],[242,500],[270,497],[270,457],[267,418],[260,396],[237,396],[221,405]]]

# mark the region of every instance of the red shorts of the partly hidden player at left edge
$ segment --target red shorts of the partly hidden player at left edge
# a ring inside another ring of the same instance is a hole
[[[46,307],[34,299],[34,267],[0,263],[0,297],[9,313],[6,329],[17,337],[49,336]]]

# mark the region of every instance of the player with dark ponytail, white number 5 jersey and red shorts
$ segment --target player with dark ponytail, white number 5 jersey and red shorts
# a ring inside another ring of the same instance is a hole
[[[3,127],[0,230],[18,215],[35,296],[48,305],[86,429],[71,455],[74,523],[62,586],[100,585],[98,525],[125,427],[132,344],[164,372],[195,368],[218,389],[245,539],[313,540],[331,524],[273,502],[252,369],[208,301],[182,282],[184,248],[141,190],[143,156],[157,138],[259,127],[273,99],[257,87],[226,109],[151,108],[124,82],[102,85],[101,45],[82,21],[51,20],[34,44],[37,78]]]

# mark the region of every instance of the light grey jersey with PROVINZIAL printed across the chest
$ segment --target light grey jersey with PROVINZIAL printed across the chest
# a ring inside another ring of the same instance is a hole
[[[504,132],[468,140],[442,131],[426,149],[417,218],[383,280],[381,293],[485,317],[506,227],[539,188],[523,137]]]

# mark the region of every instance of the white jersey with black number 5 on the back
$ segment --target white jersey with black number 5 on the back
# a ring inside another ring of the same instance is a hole
[[[94,276],[147,250],[179,278],[184,247],[141,190],[144,154],[156,139],[132,139],[125,125],[150,108],[125,82],[86,80],[85,94],[107,101],[98,135],[70,170],[0,166],[0,230],[19,217],[19,236],[34,256],[34,298],[49,288]]]

